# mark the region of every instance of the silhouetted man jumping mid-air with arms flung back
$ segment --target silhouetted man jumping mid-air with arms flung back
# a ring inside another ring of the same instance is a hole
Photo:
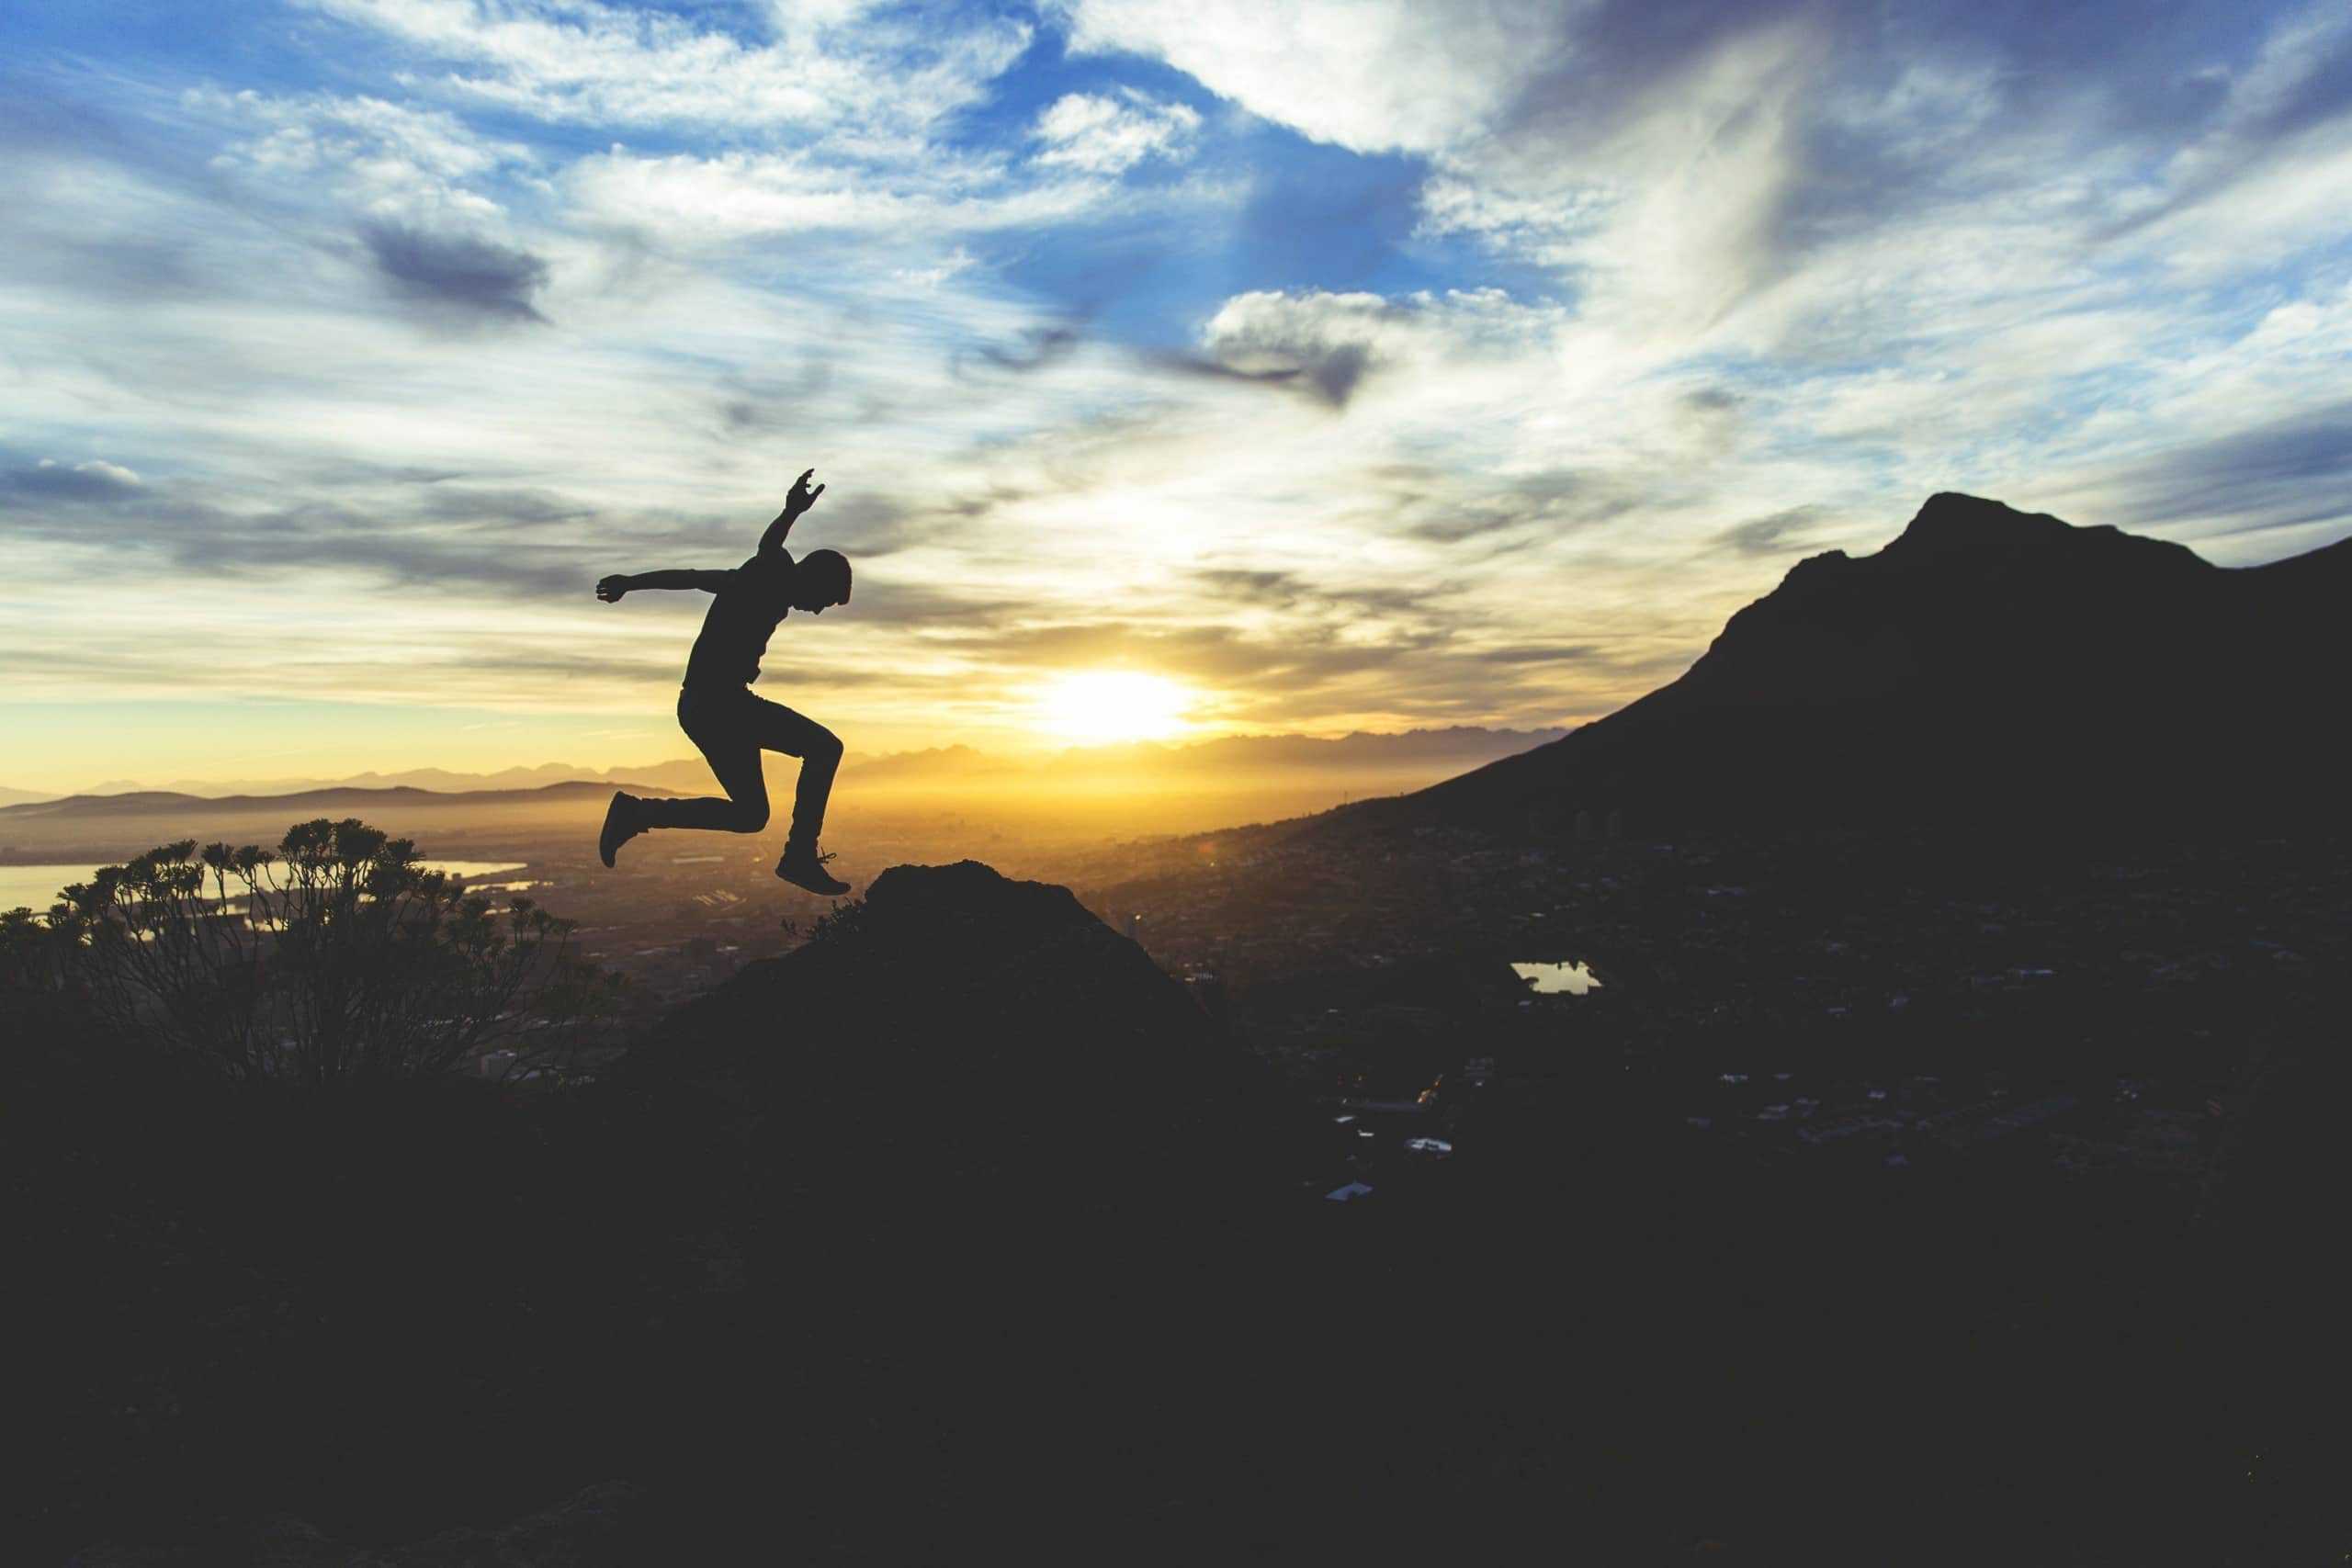
[[[616,604],[633,588],[701,588],[710,597],[703,632],[687,656],[687,679],[677,691],[677,726],[703,752],[717,773],[727,799],[640,799],[614,790],[604,809],[604,832],[597,853],[612,865],[614,851],[647,827],[706,827],[717,832],[760,832],[767,827],[767,778],[760,752],[800,757],[800,788],[793,792],[793,832],[783,842],[776,875],[811,893],[847,893],[849,884],[826,870],[833,856],[816,853],[816,835],[826,825],[826,797],[833,771],[842,764],[842,743],[830,729],[804,715],[750,693],[760,679],[760,656],[776,625],[804,609],[826,614],[849,604],[849,562],[837,550],[811,550],[793,559],[783,536],[800,515],[826,494],[809,489],[809,475],[793,482],[776,522],[760,536],[760,552],[734,571],[644,571],[609,576],[595,585],[595,597]]]

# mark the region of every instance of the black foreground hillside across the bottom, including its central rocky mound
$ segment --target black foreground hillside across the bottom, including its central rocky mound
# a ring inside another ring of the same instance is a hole
[[[1065,891],[967,863],[887,872],[588,1091],[12,1060],[9,1561],[2336,1540],[2303,1229],[2331,1058],[2270,1084],[2220,1220],[1999,1164],[1717,1166],[1606,1081],[1442,1201],[1329,1204],[1327,1121]]]

